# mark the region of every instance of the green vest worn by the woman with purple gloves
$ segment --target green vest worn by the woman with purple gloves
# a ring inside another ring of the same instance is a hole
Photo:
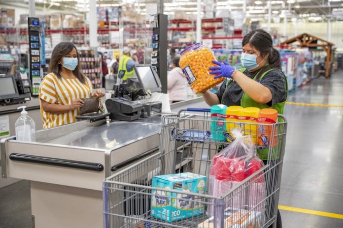
[[[244,73],[246,70],[246,68],[242,68],[240,69],[240,72]],[[270,71],[272,71],[274,69],[269,69],[267,70],[266,72],[263,72],[261,77],[259,78],[260,80],[262,80],[262,78]],[[256,81],[256,78],[257,76],[260,74],[260,72],[258,72],[255,77],[253,78],[253,80]],[[288,84],[287,84],[287,78],[285,77],[285,80],[286,80],[286,91],[288,91]],[[223,99],[222,99],[223,100]],[[284,102],[279,102],[275,105],[273,105],[272,107],[269,107],[267,104],[260,104],[260,103],[257,103],[256,101],[254,101],[251,97],[249,97],[245,92],[243,92],[243,96],[242,98],[240,99],[240,106],[243,107],[243,108],[246,108],[246,107],[256,107],[256,108],[259,108],[259,109],[266,109],[266,108],[272,108],[272,109],[275,109],[277,110],[277,113],[278,114],[283,114],[283,109],[284,109],[284,106],[285,106],[285,103],[286,101]],[[282,119],[279,119],[279,122],[282,121]],[[262,160],[267,160],[268,159],[268,150],[269,149],[257,149],[257,153],[259,154],[260,158]],[[277,159],[279,157],[279,152],[280,151],[274,151],[273,150],[273,155],[272,155],[272,159]]]

